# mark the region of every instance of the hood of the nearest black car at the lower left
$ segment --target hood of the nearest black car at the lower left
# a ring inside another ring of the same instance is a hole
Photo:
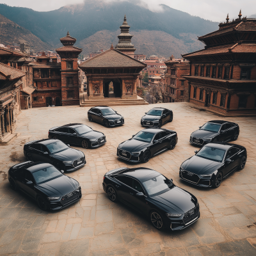
[[[61,175],[56,179],[49,180],[37,186],[47,196],[64,196],[74,191],[79,186],[79,183],[66,175]]]

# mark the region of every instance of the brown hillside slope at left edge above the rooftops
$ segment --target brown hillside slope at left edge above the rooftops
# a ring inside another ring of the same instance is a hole
[[[33,35],[28,29],[22,28],[0,14],[0,44],[12,45],[13,42],[27,42],[35,51],[52,49],[51,45],[42,42],[40,38]]]

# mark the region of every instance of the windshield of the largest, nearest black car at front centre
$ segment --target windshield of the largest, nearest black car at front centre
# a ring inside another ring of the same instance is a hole
[[[142,183],[149,196],[163,194],[173,186],[173,183],[161,174]]]

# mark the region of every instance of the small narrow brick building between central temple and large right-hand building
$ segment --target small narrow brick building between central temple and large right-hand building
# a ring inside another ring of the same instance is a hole
[[[184,76],[189,75],[190,64],[183,59],[175,59],[164,62],[167,72],[164,79],[164,95],[166,102],[188,101],[188,80]]]

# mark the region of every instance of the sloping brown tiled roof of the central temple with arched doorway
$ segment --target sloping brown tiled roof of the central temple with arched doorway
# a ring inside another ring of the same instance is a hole
[[[141,67],[145,68],[147,65],[141,61],[116,50],[109,49],[97,56],[84,61],[79,65],[80,68],[118,68],[118,67]]]

